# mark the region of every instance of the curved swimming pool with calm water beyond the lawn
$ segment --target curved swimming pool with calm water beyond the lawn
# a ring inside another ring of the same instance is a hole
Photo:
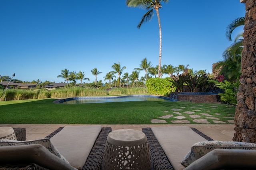
[[[70,97],[60,99],[57,103],[80,104],[80,103],[108,103],[108,102],[126,102],[126,101],[162,101],[170,102],[172,99],[163,96],[154,95],[125,95],[109,97]]]

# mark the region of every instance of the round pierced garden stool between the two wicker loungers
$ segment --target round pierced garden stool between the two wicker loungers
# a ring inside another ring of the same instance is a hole
[[[139,130],[119,129],[108,134],[104,170],[151,170],[146,135]]]

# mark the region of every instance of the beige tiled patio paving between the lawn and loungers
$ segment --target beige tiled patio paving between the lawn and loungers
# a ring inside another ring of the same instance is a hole
[[[23,127],[26,128],[26,140],[33,140],[44,138],[48,134],[54,132],[59,127],[65,126],[77,126],[67,124],[0,124],[0,127]],[[88,126],[88,125],[83,125]],[[179,125],[162,125],[162,124],[150,124],[150,125],[101,125],[102,127],[111,127],[112,130],[117,129],[135,129],[142,130],[144,127],[168,127],[168,126],[188,126],[194,127],[199,131],[203,132],[207,136],[210,136],[214,140],[232,141],[234,137],[234,124],[215,124],[215,125],[192,125],[192,124],[179,124]]]

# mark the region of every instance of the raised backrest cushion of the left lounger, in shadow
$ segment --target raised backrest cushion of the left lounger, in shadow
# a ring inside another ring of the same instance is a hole
[[[77,170],[41,144],[3,146],[0,147],[0,153],[0,165],[7,166],[7,169],[22,169],[25,166],[28,169],[33,168],[31,164],[36,164],[49,170]]]

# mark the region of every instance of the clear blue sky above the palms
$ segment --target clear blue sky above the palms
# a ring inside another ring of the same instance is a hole
[[[64,81],[57,76],[66,68],[84,71],[93,82],[91,70],[97,68],[102,72],[98,80],[108,82],[103,77],[114,63],[126,66],[123,73],[129,74],[145,57],[156,66],[156,14],[136,27],[145,13],[127,7],[125,0],[0,0],[0,75],[58,83]],[[194,71],[211,73],[212,63],[220,61],[232,43],[226,39],[226,27],[244,15],[239,0],[162,3],[162,65],[188,64]],[[242,31],[238,28],[233,38]]]

